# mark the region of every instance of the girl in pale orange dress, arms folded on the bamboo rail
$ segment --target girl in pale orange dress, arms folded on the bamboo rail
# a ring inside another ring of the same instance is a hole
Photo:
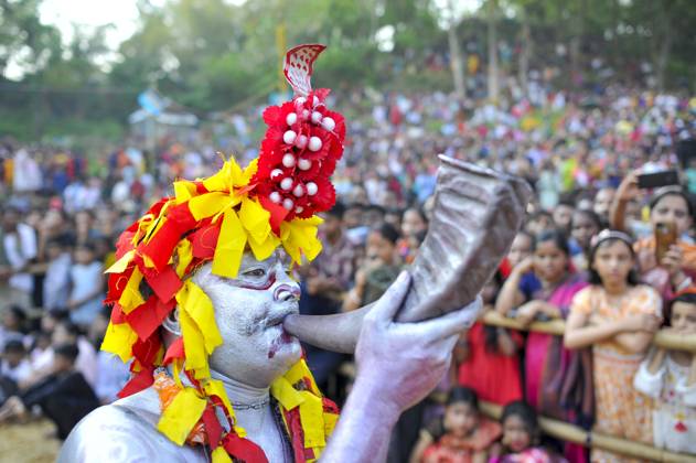
[[[611,435],[652,442],[652,400],[633,388],[641,360],[661,323],[662,300],[636,284],[631,238],[601,232],[590,252],[591,286],[572,299],[565,344],[592,347],[596,429]],[[592,449],[592,461],[617,455]]]

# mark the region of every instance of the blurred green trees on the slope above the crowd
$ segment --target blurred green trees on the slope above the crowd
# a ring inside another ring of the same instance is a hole
[[[462,53],[478,53],[482,63],[490,1],[454,25]],[[57,29],[40,21],[40,3],[0,0],[0,134],[41,137],[60,131],[62,120],[122,126],[147,88],[200,116],[259,103],[281,85],[280,49],[303,42],[329,45],[317,65],[318,86],[453,88],[442,0],[168,0],[160,7],[139,0],[137,30],[116,51],[106,46],[108,26],[76,29],[63,43]],[[529,51],[503,60],[513,75],[522,65],[554,65],[564,71],[560,84],[569,85],[601,58],[619,80],[644,77],[649,63],[656,85],[694,89],[690,0],[496,0],[495,6],[499,40]],[[559,45],[569,52],[558,54]],[[429,66],[433,56],[446,63],[443,71]],[[12,66],[23,69],[21,79],[8,78]]]

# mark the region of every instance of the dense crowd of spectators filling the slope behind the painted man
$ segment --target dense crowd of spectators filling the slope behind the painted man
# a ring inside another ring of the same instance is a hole
[[[695,98],[508,85],[496,105],[362,91],[331,106],[349,119],[346,149],[324,250],[298,269],[303,313],[373,302],[414,260],[442,153],[534,186],[523,229],[482,291],[484,312],[524,325],[566,320],[564,337],[482,322],[462,333],[450,375],[397,424],[392,461],[588,460],[581,445],[544,437],[537,413],[696,453],[696,356],[651,347],[660,329],[696,334]],[[261,109],[235,116],[224,148],[242,163],[257,155]],[[222,161],[206,143],[171,139],[104,157],[4,140],[0,159],[0,421],[42,413],[64,439],[128,379],[127,366],[98,351],[109,319],[103,272],[119,233],[174,179],[208,175]],[[677,170],[681,184],[638,187],[640,174],[664,170]],[[660,254],[665,224],[676,240]],[[340,400],[350,358],[306,353]],[[504,406],[500,423],[481,416],[479,399]],[[592,461],[615,459],[592,450]]]

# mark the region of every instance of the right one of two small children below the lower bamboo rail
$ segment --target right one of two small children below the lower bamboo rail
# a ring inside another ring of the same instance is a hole
[[[539,423],[528,403],[515,401],[503,409],[503,449],[489,463],[561,463],[565,459],[539,445]]]

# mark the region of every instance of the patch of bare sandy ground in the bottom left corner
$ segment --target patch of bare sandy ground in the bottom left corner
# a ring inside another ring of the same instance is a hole
[[[55,462],[61,441],[47,438],[55,427],[47,420],[0,426],[0,463]]]

